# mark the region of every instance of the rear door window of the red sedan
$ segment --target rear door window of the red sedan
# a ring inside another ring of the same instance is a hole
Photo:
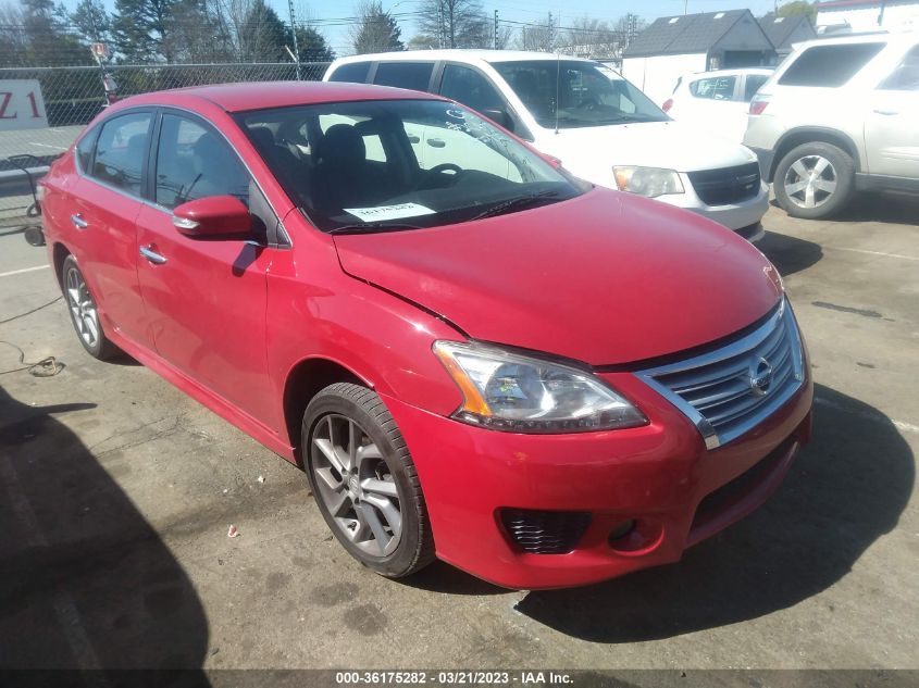
[[[149,112],[113,117],[102,125],[90,176],[140,196],[140,177],[150,141]]]

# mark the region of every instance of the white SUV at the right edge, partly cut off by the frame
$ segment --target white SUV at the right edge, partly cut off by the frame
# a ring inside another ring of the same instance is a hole
[[[856,190],[919,192],[919,34],[802,43],[750,102],[744,143],[795,217]]]

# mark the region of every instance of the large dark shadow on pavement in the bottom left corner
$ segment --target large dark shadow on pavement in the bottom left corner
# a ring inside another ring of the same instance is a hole
[[[94,405],[28,406],[0,387],[0,670],[200,670],[191,581],[58,420]],[[183,685],[208,683],[198,671]]]

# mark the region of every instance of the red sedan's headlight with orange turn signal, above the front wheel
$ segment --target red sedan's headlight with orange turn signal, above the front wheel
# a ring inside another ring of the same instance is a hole
[[[435,341],[463,396],[454,417],[511,433],[576,433],[644,425],[644,414],[589,373],[476,343]]]

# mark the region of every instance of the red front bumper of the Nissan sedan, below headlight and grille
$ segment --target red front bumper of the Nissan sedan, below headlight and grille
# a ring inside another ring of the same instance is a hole
[[[440,559],[519,589],[585,585],[675,562],[685,548],[761,504],[809,439],[809,375],[772,416],[710,451],[690,421],[636,377],[603,377],[638,402],[648,425],[518,435],[384,397],[413,456]],[[505,508],[588,511],[592,517],[572,551],[533,554],[507,535]],[[611,543],[610,531],[624,520],[636,527]]]

